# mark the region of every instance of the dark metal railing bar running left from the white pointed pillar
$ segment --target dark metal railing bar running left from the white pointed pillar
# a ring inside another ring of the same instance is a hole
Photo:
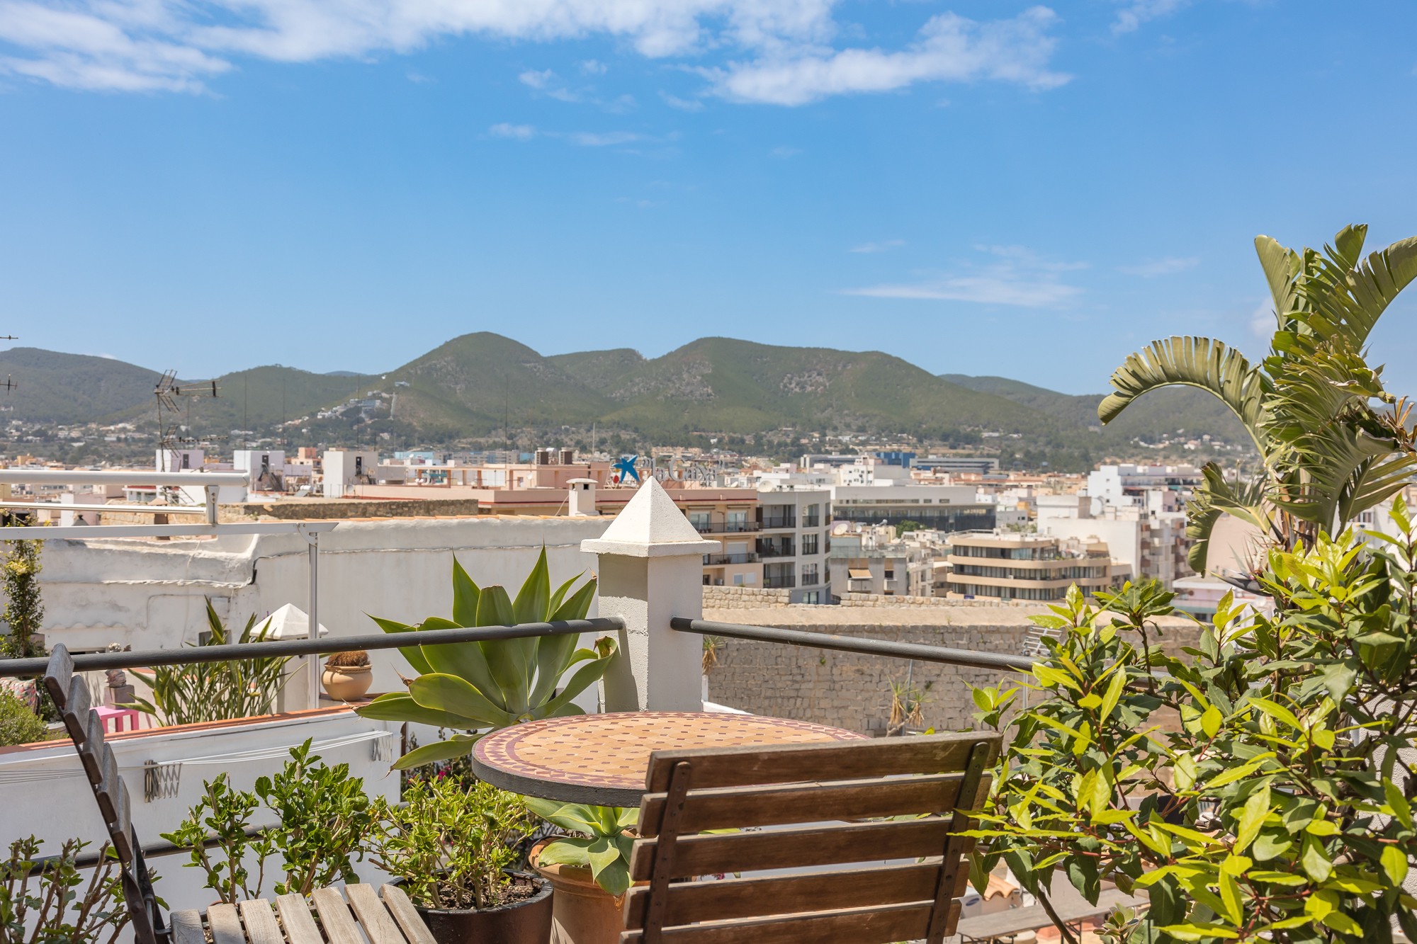
[[[326,655],[356,649],[401,649],[404,646],[449,645],[453,642],[490,642],[493,639],[526,639],[530,636],[564,636],[582,632],[619,631],[625,621],[619,617],[594,619],[561,619],[557,622],[521,622],[512,626],[469,626],[461,629],[412,629],[410,632],[380,632],[339,639],[268,639],[266,642],[237,642],[224,646],[181,646],[177,649],[133,649],[129,652],[91,652],[74,656],[75,672],[108,669],[145,669],[154,665],[193,665],[197,662],[228,662],[271,656]],[[44,675],[50,656],[33,659],[0,659],[0,679]]]

